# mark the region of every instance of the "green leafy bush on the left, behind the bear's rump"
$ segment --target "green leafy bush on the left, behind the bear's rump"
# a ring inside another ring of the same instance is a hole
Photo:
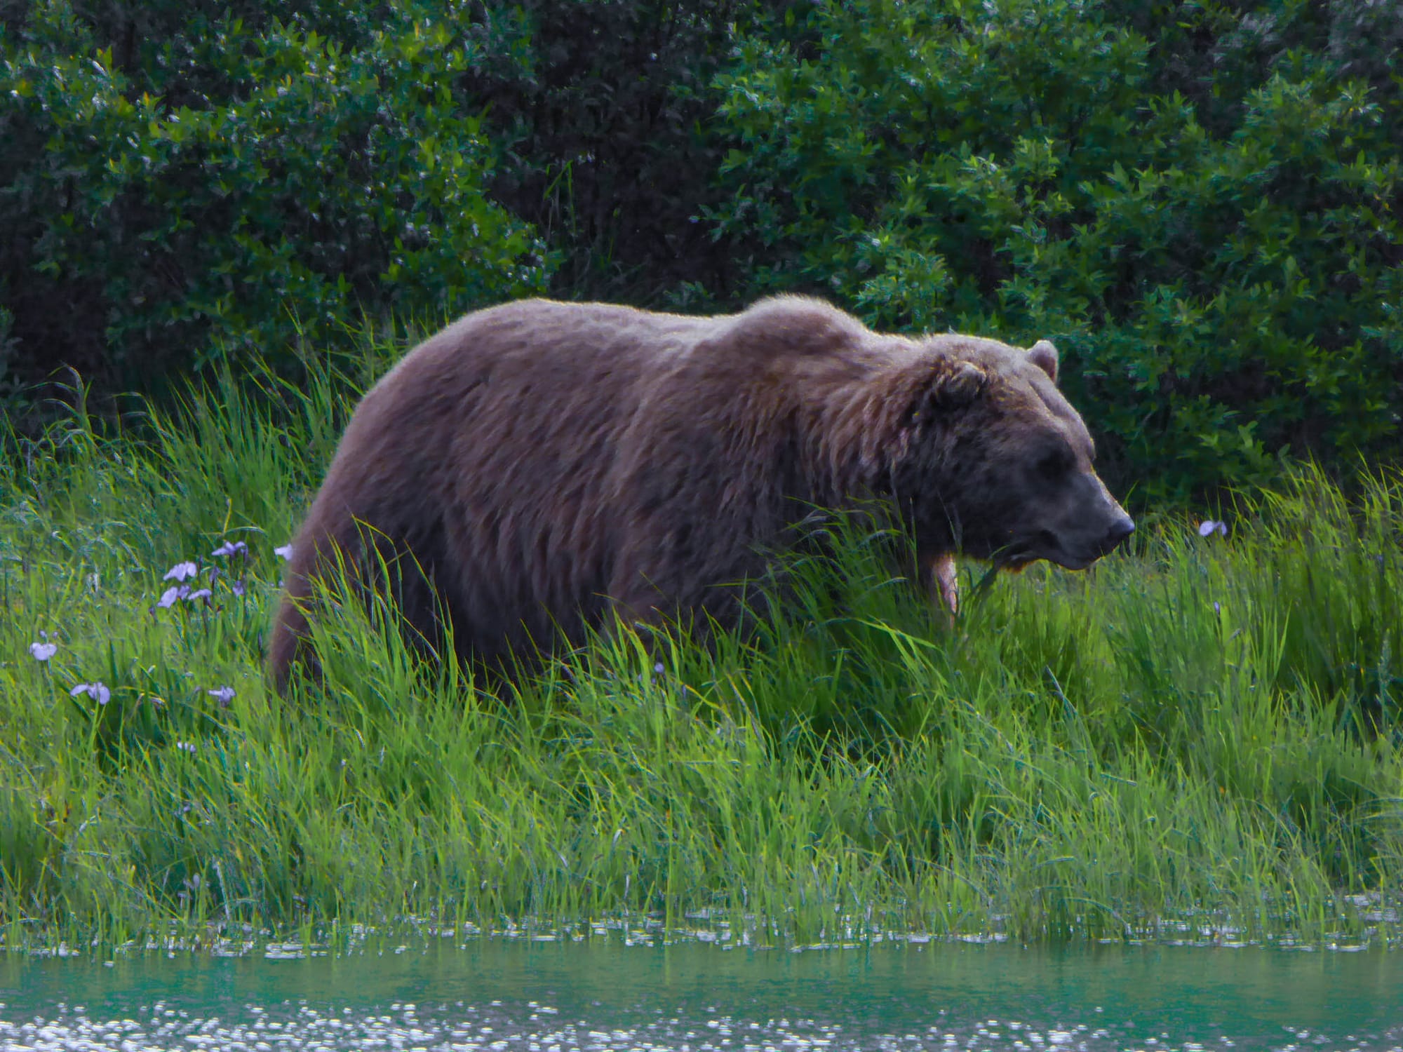
[[[271,3],[248,24],[153,8],[168,35],[126,46],[133,73],[119,27],[63,0],[0,36],[0,295],[27,379],[142,383],[216,344],[276,358],[361,310],[438,323],[544,288],[543,244],[484,191],[449,21],[363,13],[348,45]]]

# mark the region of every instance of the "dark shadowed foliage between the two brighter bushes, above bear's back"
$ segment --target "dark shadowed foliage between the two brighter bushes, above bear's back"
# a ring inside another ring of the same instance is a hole
[[[748,300],[735,244],[700,222],[727,191],[711,79],[738,28],[780,0],[525,0],[487,4],[471,29],[505,156],[492,189],[561,248],[568,299],[709,304]],[[739,238],[744,240],[744,238]]]

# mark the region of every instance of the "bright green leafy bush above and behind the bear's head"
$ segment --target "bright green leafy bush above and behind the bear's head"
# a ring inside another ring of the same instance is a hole
[[[1367,7],[814,4],[718,80],[713,216],[765,236],[759,288],[1052,338],[1142,495],[1396,454],[1403,101]]]

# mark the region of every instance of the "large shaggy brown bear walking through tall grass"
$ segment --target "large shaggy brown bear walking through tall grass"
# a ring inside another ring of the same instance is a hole
[[[487,662],[616,612],[735,619],[735,582],[815,506],[885,502],[951,610],[955,551],[1087,567],[1135,525],[1056,369],[1047,341],[880,335],[794,296],[725,317],[467,314],[351,418],[293,540],[269,673],[281,690],[311,663],[310,579],[333,560],[394,567],[408,624],[442,640],[446,616]]]

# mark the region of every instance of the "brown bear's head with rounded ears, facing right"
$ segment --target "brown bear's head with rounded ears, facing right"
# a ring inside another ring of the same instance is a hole
[[[901,372],[890,487],[919,553],[1083,569],[1135,530],[1056,387],[1052,344],[929,337]]]

